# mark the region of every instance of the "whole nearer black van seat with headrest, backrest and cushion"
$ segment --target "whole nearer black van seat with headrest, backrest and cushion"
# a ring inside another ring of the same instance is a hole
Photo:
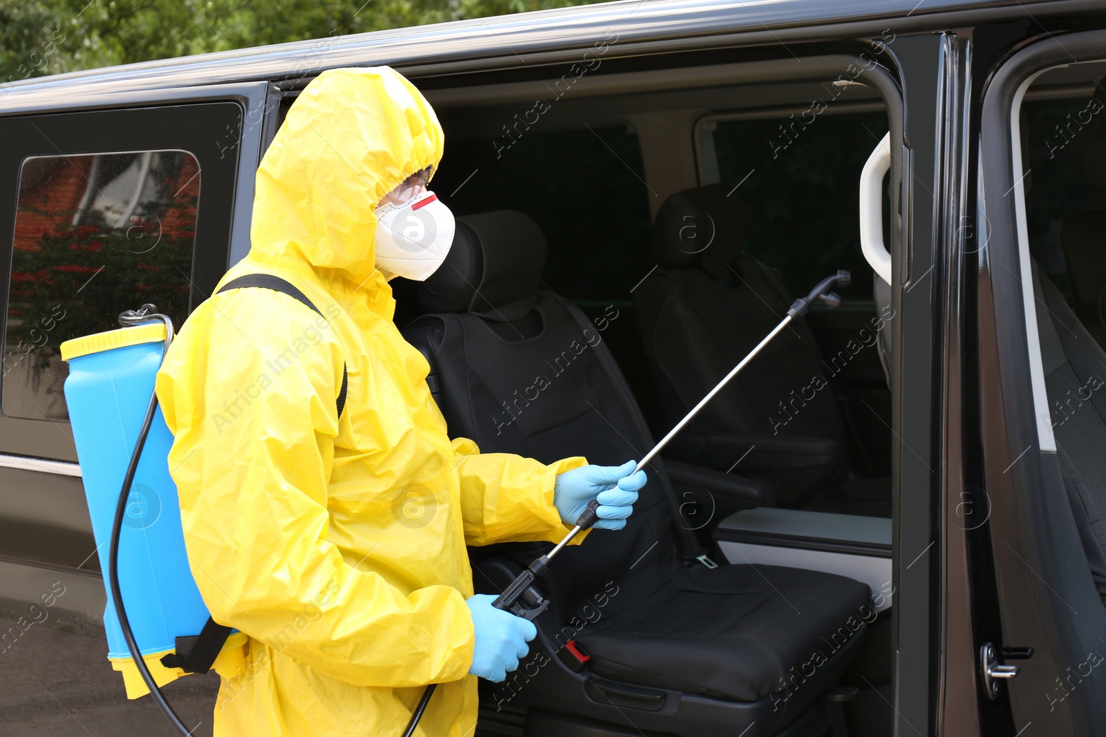
[[[419,293],[429,314],[404,330],[430,364],[450,434],[544,462],[641,457],[653,439],[604,324],[540,286],[544,262],[544,238],[522,213],[458,219],[448,259]],[[859,646],[867,586],[801,569],[706,568],[695,537],[674,524],[674,499],[658,461],[625,529],[593,530],[557,556],[542,582],[553,603],[536,622],[546,661],[488,689],[486,704],[688,737],[825,730],[811,704]],[[549,547],[470,550],[478,590],[497,592]],[[570,639],[591,656],[578,673],[561,660]]]

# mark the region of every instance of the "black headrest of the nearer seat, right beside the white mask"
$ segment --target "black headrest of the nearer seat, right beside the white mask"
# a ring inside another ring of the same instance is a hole
[[[538,223],[517,210],[458,218],[449,254],[419,289],[419,306],[428,313],[519,319],[538,297],[545,255]]]

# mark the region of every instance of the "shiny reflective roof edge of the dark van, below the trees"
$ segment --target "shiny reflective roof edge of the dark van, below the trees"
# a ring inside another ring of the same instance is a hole
[[[581,49],[604,42],[633,44],[640,53],[643,44],[671,50],[701,46],[703,36],[711,35],[739,34],[747,42],[763,36],[766,43],[773,39],[783,43],[784,36],[795,38],[796,31],[826,38],[878,36],[888,30],[947,28],[952,17],[959,22],[993,22],[1087,7],[1083,0],[618,0],[20,80],[0,85],[0,114],[12,106],[41,109],[51,99],[63,102],[59,95],[66,95],[62,106],[69,107],[74,96],[123,91],[264,80],[305,84],[319,72],[341,66],[387,64],[408,76],[456,74],[571,62],[572,56],[556,59],[556,52],[578,59]]]

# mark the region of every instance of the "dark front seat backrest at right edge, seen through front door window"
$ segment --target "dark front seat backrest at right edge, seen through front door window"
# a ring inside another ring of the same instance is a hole
[[[1064,489],[1106,604],[1106,352],[1033,267],[1045,390]]]

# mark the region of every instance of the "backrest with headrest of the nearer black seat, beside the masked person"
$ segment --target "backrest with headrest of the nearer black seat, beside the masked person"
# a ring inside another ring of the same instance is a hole
[[[545,249],[541,230],[520,212],[458,218],[448,257],[419,291],[428,314],[404,336],[430,364],[428,380],[451,438],[545,463],[572,455],[604,465],[640,459],[653,439],[633,398],[626,401],[622,377],[597,356],[606,350],[603,330],[539,286]],[[578,614],[575,602],[615,578],[627,592],[625,601],[617,597],[620,609],[657,590],[680,565],[662,465],[648,475],[626,528],[593,530],[551,567],[543,589],[564,621]],[[522,565],[538,555],[534,545],[491,547]]]

